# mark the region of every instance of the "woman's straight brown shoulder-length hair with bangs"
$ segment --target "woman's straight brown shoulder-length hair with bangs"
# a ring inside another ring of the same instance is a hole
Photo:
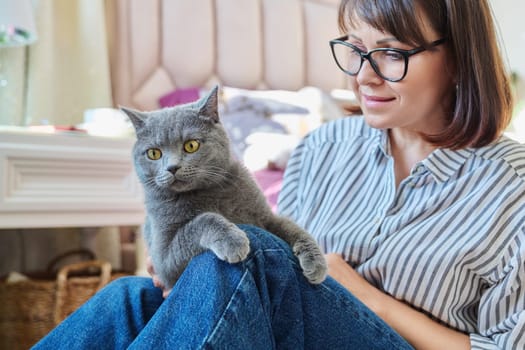
[[[343,0],[339,27],[346,33],[359,19],[401,42],[424,46],[429,43],[419,9],[447,39],[452,65],[444,70],[452,70],[457,84],[445,130],[425,137],[455,149],[490,144],[510,123],[513,98],[487,0]]]

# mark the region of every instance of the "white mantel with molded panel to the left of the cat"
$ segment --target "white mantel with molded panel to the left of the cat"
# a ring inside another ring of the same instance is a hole
[[[132,138],[0,128],[0,228],[140,225]]]

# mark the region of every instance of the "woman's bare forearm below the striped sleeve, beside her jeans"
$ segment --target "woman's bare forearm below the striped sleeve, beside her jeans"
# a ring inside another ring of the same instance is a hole
[[[433,321],[383,293],[360,276],[339,254],[327,254],[328,274],[361,300],[416,349],[470,349],[468,335]]]

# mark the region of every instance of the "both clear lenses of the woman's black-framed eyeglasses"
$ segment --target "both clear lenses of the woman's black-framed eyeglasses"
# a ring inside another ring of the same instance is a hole
[[[357,75],[361,69],[364,58],[354,48],[335,43],[333,45],[336,62],[342,70],[350,75]],[[381,77],[388,80],[399,80],[405,74],[406,59],[394,50],[371,51],[369,60],[372,67]]]

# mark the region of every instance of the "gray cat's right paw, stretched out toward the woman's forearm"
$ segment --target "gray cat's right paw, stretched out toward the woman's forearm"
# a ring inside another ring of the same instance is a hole
[[[312,284],[320,284],[326,279],[327,265],[324,254],[313,239],[300,239],[295,242],[293,252],[299,259],[303,275]]]

